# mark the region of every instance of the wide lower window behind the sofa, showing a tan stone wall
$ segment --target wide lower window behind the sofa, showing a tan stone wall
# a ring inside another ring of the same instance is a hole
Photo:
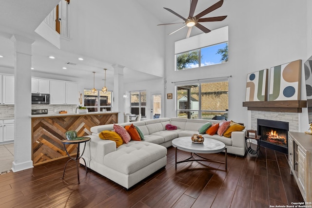
[[[176,85],[177,117],[227,119],[228,81]]]

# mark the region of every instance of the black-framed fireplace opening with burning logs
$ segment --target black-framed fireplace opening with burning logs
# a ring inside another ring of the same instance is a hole
[[[288,153],[288,122],[257,119],[261,146]]]

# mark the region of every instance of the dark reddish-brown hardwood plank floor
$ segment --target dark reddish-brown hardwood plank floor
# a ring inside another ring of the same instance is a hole
[[[259,157],[228,154],[224,164],[180,163],[169,148],[167,166],[130,190],[94,171],[85,174],[75,162],[50,162],[33,169],[0,175],[0,208],[268,208],[303,198],[290,174],[287,155],[261,148]],[[178,151],[178,160],[189,156]],[[224,161],[224,153],[204,155]]]

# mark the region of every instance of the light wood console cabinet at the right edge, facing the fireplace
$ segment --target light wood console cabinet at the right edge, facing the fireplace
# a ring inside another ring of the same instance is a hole
[[[288,132],[288,163],[305,202],[312,202],[312,135]]]

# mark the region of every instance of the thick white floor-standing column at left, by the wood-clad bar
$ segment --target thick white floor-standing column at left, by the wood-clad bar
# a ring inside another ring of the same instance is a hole
[[[31,57],[34,40],[13,35],[14,42],[14,161],[13,172],[33,168],[31,138]]]

